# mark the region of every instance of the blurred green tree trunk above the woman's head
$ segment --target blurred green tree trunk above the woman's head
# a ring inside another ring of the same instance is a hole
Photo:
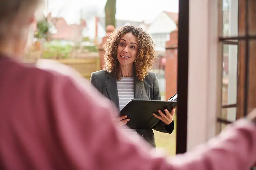
[[[105,5],[105,24],[116,27],[116,0],[107,0]]]

